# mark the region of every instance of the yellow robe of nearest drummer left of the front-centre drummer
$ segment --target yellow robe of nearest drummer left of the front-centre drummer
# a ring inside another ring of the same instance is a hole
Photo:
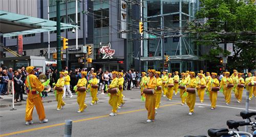
[[[117,102],[118,102],[118,98],[120,96],[120,91],[119,91],[118,87],[119,87],[118,78],[116,77],[115,79],[112,80],[112,82],[110,84],[110,89],[117,88],[117,91],[118,91],[115,94],[110,94],[109,104],[112,106],[113,113],[117,113]]]

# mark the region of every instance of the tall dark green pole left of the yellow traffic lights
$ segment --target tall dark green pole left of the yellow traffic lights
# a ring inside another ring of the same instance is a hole
[[[61,46],[60,46],[60,0],[56,1],[56,13],[57,13],[57,70],[61,71]],[[59,78],[59,73],[57,73]]]

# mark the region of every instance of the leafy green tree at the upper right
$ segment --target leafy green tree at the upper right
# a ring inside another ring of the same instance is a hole
[[[195,44],[211,46],[203,59],[208,66],[220,65],[221,43],[233,43],[233,56],[228,57],[227,69],[255,69],[256,64],[256,6],[246,0],[201,0],[195,20],[189,22],[190,37]]]

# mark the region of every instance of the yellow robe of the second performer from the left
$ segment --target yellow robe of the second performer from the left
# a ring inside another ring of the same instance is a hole
[[[55,87],[63,88],[64,85],[65,85],[65,79],[63,77],[60,77],[58,79],[57,83],[55,84]],[[65,105],[65,102],[62,100],[62,96],[63,96],[63,90],[62,91],[57,91],[56,100],[58,102],[58,104],[57,104],[58,109],[60,109],[61,106]]]

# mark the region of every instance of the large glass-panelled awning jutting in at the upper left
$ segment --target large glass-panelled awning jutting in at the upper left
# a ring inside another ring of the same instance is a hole
[[[76,27],[76,25],[60,23],[61,30]],[[4,37],[43,33],[56,29],[56,21],[0,11],[0,32]]]

